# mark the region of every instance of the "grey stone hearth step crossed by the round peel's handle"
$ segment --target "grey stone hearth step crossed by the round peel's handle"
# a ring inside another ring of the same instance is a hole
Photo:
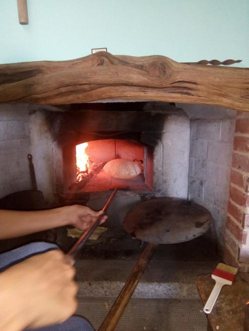
[[[217,262],[151,261],[133,298],[197,299],[195,278],[212,272]],[[118,296],[135,261],[80,260],[79,297]]]

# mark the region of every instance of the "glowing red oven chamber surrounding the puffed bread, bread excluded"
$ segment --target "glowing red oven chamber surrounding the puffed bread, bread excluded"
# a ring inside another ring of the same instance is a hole
[[[85,149],[77,152],[77,146],[83,144]],[[152,147],[124,139],[97,139],[83,144],[70,145],[63,149],[64,192],[107,191],[126,186],[131,191],[153,190]],[[80,172],[77,157],[81,158],[83,154],[86,156],[88,166]],[[110,176],[103,167],[109,161],[116,159],[137,163],[141,173],[129,179]]]

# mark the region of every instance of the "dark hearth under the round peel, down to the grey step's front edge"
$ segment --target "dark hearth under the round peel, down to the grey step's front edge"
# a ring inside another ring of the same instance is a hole
[[[67,251],[74,240],[63,231],[58,244]],[[118,228],[89,241],[76,261],[79,297],[116,297],[145,245]],[[208,234],[186,243],[159,245],[133,298],[199,299],[195,279],[212,273],[217,261]]]

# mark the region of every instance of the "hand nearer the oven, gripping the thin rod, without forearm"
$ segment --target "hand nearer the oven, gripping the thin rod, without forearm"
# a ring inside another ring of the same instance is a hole
[[[73,205],[58,208],[63,224],[73,225],[79,230],[88,229],[97,217],[103,214],[102,211],[94,211],[87,206]],[[103,215],[100,224],[104,223],[107,216]]]

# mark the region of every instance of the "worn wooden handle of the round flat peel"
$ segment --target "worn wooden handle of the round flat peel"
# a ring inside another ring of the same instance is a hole
[[[156,244],[147,244],[147,246],[144,248],[136,265],[131,271],[129,278],[124,284],[122,291],[120,292],[118,298],[116,299],[115,303],[110,309],[104,322],[100,326],[99,331],[113,331],[116,329],[116,326],[124,312],[124,309],[128,304],[141,278],[141,275],[143,274],[143,271],[148,265],[156,247],[157,247]]]

